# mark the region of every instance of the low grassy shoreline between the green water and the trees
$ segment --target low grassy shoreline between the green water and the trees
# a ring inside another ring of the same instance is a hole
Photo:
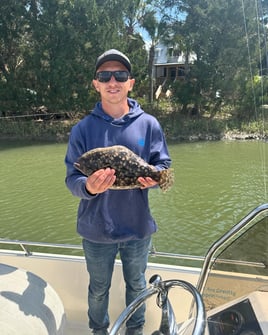
[[[242,122],[226,118],[177,117],[157,115],[168,141],[227,139],[267,139],[268,121]],[[0,138],[65,142],[78,119],[23,120],[0,119]]]

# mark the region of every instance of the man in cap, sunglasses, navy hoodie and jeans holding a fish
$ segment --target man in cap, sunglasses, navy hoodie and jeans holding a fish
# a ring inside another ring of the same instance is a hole
[[[146,288],[145,270],[151,235],[157,230],[148,204],[148,188],[157,183],[139,177],[141,188],[110,190],[116,176],[110,168],[89,177],[73,167],[88,150],[124,145],[158,170],[167,169],[171,159],[158,121],[128,97],[135,79],[126,55],[111,49],[96,62],[93,86],[100,94],[94,110],[72,128],[65,163],[66,185],[79,197],[77,231],[83,238],[87,270],[89,327],[106,335],[109,288],[119,253],[126,284],[126,305]],[[142,335],[145,305],[127,321],[126,335]]]

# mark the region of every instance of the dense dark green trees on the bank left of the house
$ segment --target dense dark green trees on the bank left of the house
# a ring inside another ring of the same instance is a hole
[[[125,31],[125,7],[123,0],[3,0],[0,112],[87,109],[95,60],[108,48],[133,53],[142,69],[143,42]]]

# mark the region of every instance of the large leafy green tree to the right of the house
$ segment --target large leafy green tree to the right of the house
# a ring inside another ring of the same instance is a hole
[[[185,22],[178,28],[182,44],[197,57],[184,84],[192,87],[192,103],[198,104],[201,112],[210,106],[211,116],[222,103],[235,108],[243,105],[241,87],[251,80],[249,63],[253,75],[258,71],[255,4],[250,0],[242,4],[236,0],[180,3],[180,10],[186,12]]]

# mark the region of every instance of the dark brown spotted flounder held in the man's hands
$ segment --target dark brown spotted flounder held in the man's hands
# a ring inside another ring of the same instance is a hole
[[[89,150],[80,156],[74,167],[86,176],[99,169],[115,170],[116,180],[110,187],[113,190],[140,188],[138,177],[151,177],[157,181],[162,191],[167,191],[174,182],[173,169],[158,171],[146,163],[133,151],[122,145]]]

